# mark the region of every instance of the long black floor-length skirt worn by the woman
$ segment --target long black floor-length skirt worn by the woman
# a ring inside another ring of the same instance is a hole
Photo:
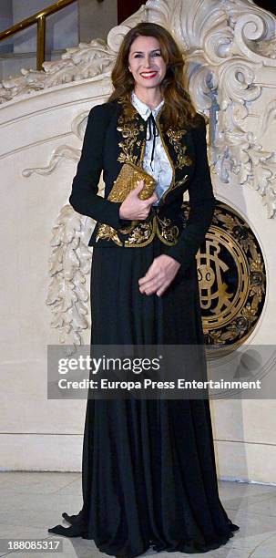
[[[94,248],[91,345],[203,343],[196,261],[161,296],[139,292],[163,252],[158,238]],[[239,529],[220,502],[206,398],[88,398],[82,487],[83,508],[62,514],[72,527],[59,533],[93,539],[103,553],[205,553]]]

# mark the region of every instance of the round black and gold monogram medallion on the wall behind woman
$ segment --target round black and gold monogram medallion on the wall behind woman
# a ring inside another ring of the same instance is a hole
[[[240,346],[261,316],[266,274],[261,247],[249,224],[225,203],[217,202],[197,266],[207,346]]]

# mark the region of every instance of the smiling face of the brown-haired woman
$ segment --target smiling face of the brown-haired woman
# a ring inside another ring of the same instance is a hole
[[[158,88],[166,75],[166,63],[155,36],[137,36],[128,54],[128,69],[136,86]]]

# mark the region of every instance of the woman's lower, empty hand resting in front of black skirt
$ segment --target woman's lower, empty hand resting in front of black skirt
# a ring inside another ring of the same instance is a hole
[[[147,274],[138,280],[140,293],[156,293],[158,296],[165,293],[178,273],[179,267],[180,263],[165,253],[154,258]]]

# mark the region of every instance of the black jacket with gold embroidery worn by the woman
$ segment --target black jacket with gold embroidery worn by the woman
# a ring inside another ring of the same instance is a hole
[[[158,209],[151,206],[147,220],[152,222],[158,213],[164,222],[169,219],[177,225],[179,237],[175,245],[166,243],[165,253],[181,263],[182,270],[189,267],[204,241],[215,209],[216,199],[210,180],[210,168],[207,159],[206,125],[199,116],[199,125],[182,130],[169,128],[162,131],[162,109],[157,117],[158,130],[164,148],[169,156],[173,178],[169,189],[164,192]],[[118,173],[125,161],[131,160],[141,164],[146,141],[147,122],[133,108],[126,113],[124,105],[116,100],[93,107],[88,115],[77,174],[73,180],[69,202],[73,208],[97,221],[91,235],[89,246],[110,246],[120,244],[125,248],[128,235],[119,233],[130,221],[119,217],[120,202],[110,202],[107,196],[112,189]],[[101,171],[105,182],[105,197],[98,195],[98,182]],[[183,224],[183,193],[189,191],[189,219]],[[99,234],[104,224],[105,230],[112,234]],[[146,223],[147,224],[147,223]],[[143,225],[145,228],[145,224]],[[113,242],[112,238],[118,240]],[[162,237],[160,236],[162,239]],[[142,247],[146,243],[142,243]],[[119,248],[121,249],[121,248]]]

